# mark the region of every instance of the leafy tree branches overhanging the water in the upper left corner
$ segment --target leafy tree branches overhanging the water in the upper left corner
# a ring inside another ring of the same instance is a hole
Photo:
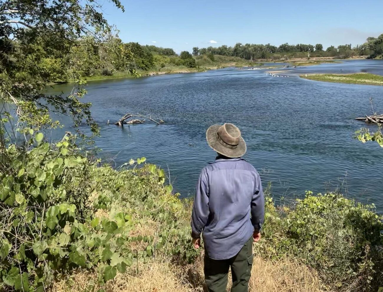
[[[118,0],[110,2],[123,9]],[[130,59],[128,51],[110,41],[112,29],[101,6],[95,1],[5,0],[0,3],[0,23],[0,98],[15,107],[20,129],[57,127],[59,122],[49,113],[53,111],[72,116],[75,126],[85,121],[97,133],[90,103],[79,101],[86,93],[81,76],[88,69],[84,66],[87,61],[75,54],[82,50],[75,47],[113,43],[114,47],[104,49]],[[83,41],[79,43],[79,39]],[[71,94],[44,94],[47,85],[64,81],[69,74],[75,80]],[[9,111],[0,114],[2,121],[15,116]]]

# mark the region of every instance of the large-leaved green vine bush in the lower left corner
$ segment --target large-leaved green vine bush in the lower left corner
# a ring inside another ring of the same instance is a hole
[[[120,221],[93,218],[88,204],[93,164],[75,153],[69,138],[57,149],[35,137],[31,151],[7,149],[0,178],[0,278],[15,290],[44,291],[57,274],[96,267],[102,284],[131,265],[116,234]],[[4,154],[4,153],[3,153]]]

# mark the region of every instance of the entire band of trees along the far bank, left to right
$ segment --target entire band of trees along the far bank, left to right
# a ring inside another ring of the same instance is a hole
[[[56,44],[57,43],[57,44]],[[21,46],[23,44],[23,46]],[[54,46],[53,46],[54,44]],[[15,72],[38,70],[39,74],[49,75],[55,82],[66,82],[76,79],[73,75],[94,76],[113,75],[115,72],[147,72],[147,71],[173,71],[198,66],[211,66],[212,63],[224,62],[218,60],[218,56],[241,58],[242,60],[255,59],[286,59],[293,57],[349,57],[354,55],[366,55],[370,58],[383,56],[383,34],[378,38],[368,38],[366,43],[352,47],[351,44],[330,46],[324,50],[322,44],[296,44],[288,43],[280,46],[271,44],[241,44],[234,47],[219,46],[214,48],[194,47],[192,53],[182,51],[176,54],[171,48],[160,48],[153,45],[141,45],[139,43],[123,43],[113,34],[105,39],[95,39],[87,35],[76,39],[74,44],[66,46],[65,50],[59,49],[61,44],[57,36],[52,33],[41,33],[32,40],[27,39],[3,39],[5,50],[1,53],[3,62],[15,58],[15,52],[20,56],[25,51],[33,50],[33,58],[24,58],[23,66],[18,66]],[[25,47],[25,48],[24,48]],[[23,48],[23,51],[21,50]],[[9,52],[8,52],[9,51]],[[39,59],[39,68],[34,66],[35,59]],[[5,61],[4,61],[5,60]],[[70,62],[68,62],[70,60]],[[232,60],[232,62],[237,62]],[[179,68],[181,67],[181,68]],[[25,68],[28,68],[25,70]],[[28,71],[28,72],[27,72]],[[52,81],[52,80],[51,80]]]

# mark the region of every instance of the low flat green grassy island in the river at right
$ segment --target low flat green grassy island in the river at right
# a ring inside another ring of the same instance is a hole
[[[383,76],[370,74],[370,73],[309,74],[309,75],[300,75],[300,77],[304,79],[324,81],[324,82],[383,85]]]

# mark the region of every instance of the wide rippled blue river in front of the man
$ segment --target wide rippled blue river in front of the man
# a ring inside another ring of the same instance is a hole
[[[383,60],[283,70],[277,74],[283,77],[268,75],[267,70],[226,68],[89,82],[83,101],[92,102],[92,115],[101,128],[96,146],[103,150],[103,162],[118,167],[144,156],[170,174],[182,197],[194,194],[201,168],[214,160],[206,129],[230,122],[241,129],[247,143],[244,158],[259,171],[264,187],[272,182],[274,197],[291,200],[305,190],[340,188],[383,212],[383,149],[353,138],[365,126],[354,118],[372,114],[370,97],[375,111],[383,112],[383,87],[298,77],[325,72],[383,75]],[[55,90],[65,92],[69,86],[57,85]],[[149,113],[166,123],[107,125],[107,120],[117,121],[127,112]],[[64,130],[73,130],[69,121],[65,126]],[[81,130],[87,132],[85,127]],[[54,135],[58,139],[61,134]]]

